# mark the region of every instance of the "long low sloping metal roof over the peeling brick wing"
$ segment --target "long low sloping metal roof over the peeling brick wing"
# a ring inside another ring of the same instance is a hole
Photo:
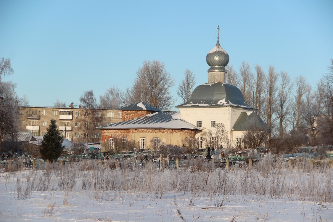
[[[195,125],[180,118],[179,112],[160,111],[144,115],[135,119],[112,123],[96,127],[98,129],[125,129],[125,128],[172,128],[172,129],[196,129]]]

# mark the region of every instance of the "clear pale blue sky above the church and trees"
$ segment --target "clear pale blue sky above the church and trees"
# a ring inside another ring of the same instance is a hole
[[[274,65],[315,86],[333,58],[333,1],[0,1],[0,57],[31,106],[79,104],[110,86],[131,86],[144,60],[208,81],[206,54],[220,44],[235,69]],[[254,69],[252,68],[254,72]],[[174,104],[179,105],[180,99]]]

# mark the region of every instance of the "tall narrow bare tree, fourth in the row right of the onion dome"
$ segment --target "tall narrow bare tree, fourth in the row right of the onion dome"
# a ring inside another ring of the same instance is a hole
[[[273,113],[276,111],[276,92],[277,92],[277,81],[279,75],[275,72],[274,66],[268,67],[268,74],[265,78],[266,83],[266,104],[265,104],[265,114],[266,114],[266,124],[270,129],[273,128]]]

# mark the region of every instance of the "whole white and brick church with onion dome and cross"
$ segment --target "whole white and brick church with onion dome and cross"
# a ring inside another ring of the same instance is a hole
[[[152,150],[160,142],[182,146],[185,137],[189,137],[195,138],[196,148],[201,149],[205,148],[202,132],[214,130],[217,123],[223,123],[229,146],[240,147],[247,122],[265,123],[254,112],[256,109],[245,102],[240,90],[225,83],[229,55],[221,48],[218,38],[219,34],[215,47],[206,56],[210,67],[208,83],[197,86],[188,101],[176,106],[179,112],[160,111],[141,101],[131,104],[120,109],[123,117],[129,116],[125,121],[97,127],[102,131],[102,142],[109,140],[113,148],[114,135],[126,135],[127,140],[134,140],[137,148]]]

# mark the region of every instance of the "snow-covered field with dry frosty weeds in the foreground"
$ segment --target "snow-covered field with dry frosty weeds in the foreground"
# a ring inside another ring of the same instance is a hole
[[[188,164],[201,170],[80,162],[1,173],[0,221],[333,221],[326,166]]]

